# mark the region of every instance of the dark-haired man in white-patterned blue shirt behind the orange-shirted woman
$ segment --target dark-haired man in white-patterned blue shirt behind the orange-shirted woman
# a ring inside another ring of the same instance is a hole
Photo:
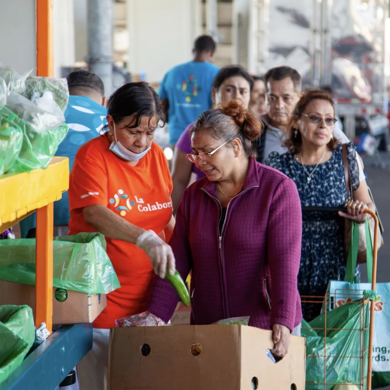
[[[85,70],[72,72],[67,77],[69,88],[69,103],[64,113],[69,126],[66,138],[58,147],[56,156],[69,158],[69,168],[81,145],[92,138],[98,137],[107,124],[107,109],[105,106],[104,85],[100,77]],[[69,202],[68,192],[62,194],[62,199],[54,202],[54,236],[68,233]],[[22,238],[34,238],[36,228],[35,213],[20,221]]]

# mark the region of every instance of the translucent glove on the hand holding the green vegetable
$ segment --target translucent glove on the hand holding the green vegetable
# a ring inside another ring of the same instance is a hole
[[[165,278],[167,265],[168,272],[171,275],[175,273],[175,256],[173,255],[172,248],[152,230],[143,232],[137,238],[136,245],[149,256],[154,272],[161,279]]]

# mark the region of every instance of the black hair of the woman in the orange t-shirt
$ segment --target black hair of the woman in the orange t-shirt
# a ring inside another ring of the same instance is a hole
[[[149,117],[150,121],[154,116],[159,120],[165,121],[165,113],[161,106],[161,100],[156,91],[145,82],[126,83],[118,88],[108,100],[107,103],[108,115],[111,115],[115,123],[119,123],[124,118],[135,115],[136,120],[132,126],[128,128],[136,128],[140,125],[141,117]]]

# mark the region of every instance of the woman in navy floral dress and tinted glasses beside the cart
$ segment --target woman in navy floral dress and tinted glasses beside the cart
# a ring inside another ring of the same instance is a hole
[[[289,126],[284,154],[272,152],[266,161],[294,180],[302,206],[341,207],[346,199],[342,145],[333,136],[335,107],[328,93],[306,92],[298,102]],[[304,215],[302,257],[298,287],[302,296],[323,296],[330,280],[345,277],[344,221],[340,216],[364,222],[367,206],[374,205],[366,181],[359,182],[356,150],[347,145],[354,202],[347,203],[347,214]],[[356,277],[360,278],[359,268]],[[303,317],[310,321],[321,305],[303,304]]]

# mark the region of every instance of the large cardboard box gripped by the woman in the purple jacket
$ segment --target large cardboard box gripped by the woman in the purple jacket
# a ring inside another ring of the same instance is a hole
[[[304,390],[306,339],[278,363],[272,348],[271,331],[240,325],[113,328],[108,388]]]

